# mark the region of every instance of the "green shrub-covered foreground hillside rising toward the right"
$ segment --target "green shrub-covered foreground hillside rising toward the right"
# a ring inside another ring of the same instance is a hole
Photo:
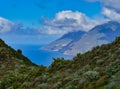
[[[8,69],[8,64],[0,71]],[[120,37],[73,60],[54,59],[48,68],[26,62],[14,68],[0,79],[0,89],[120,89]]]

